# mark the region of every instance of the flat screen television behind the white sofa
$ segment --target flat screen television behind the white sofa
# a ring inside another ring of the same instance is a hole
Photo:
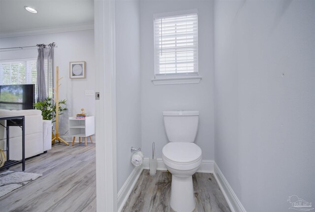
[[[0,85],[0,109],[34,109],[35,85]]]

